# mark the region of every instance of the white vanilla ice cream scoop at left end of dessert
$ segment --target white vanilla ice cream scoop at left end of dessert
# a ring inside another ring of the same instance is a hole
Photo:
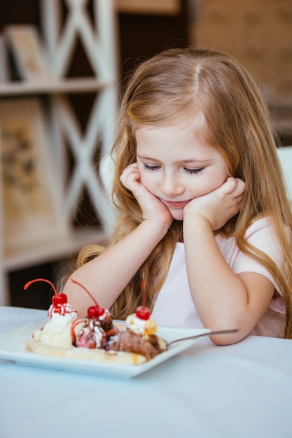
[[[50,312],[51,318],[43,328],[33,334],[36,341],[56,347],[70,348],[72,346],[71,323],[77,318],[78,313],[71,311],[64,313]]]

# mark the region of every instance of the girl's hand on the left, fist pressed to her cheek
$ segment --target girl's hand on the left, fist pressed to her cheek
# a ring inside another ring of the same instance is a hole
[[[137,199],[137,202],[141,207],[143,219],[161,222],[170,227],[172,224],[172,216],[167,207],[162,204],[153,193],[146,189],[141,183],[140,178],[141,176],[137,163],[133,163],[123,171],[123,174],[120,176],[120,181]]]

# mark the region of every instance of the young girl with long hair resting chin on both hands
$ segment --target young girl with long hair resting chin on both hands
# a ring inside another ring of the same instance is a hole
[[[292,338],[292,215],[249,73],[211,50],[148,59],[125,91],[113,156],[120,217],[73,274],[99,304],[123,319],[143,295],[160,325],[238,329],[217,344]],[[79,313],[92,305],[71,281],[64,292]]]

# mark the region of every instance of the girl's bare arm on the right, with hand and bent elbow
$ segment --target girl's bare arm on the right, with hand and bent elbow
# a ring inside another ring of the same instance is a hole
[[[183,220],[188,281],[202,323],[211,330],[239,329],[236,334],[214,337],[217,344],[232,344],[249,334],[274,294],[274,286],[264,276],[236,275],[218,248],[214,230],[223,225],[221,214],[231,208],[232,201],[224,196],[225,189],[223,185],[194,199],[186,206]]]

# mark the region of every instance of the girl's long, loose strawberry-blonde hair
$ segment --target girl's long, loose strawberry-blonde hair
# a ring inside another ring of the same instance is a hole
[[[246,183],[241,211],[219,232],[235,236],[239,249],[258,260],[274,276],[286,302],[285,336],[291,338],[291,209],[267,106],[255,80],[230,55],[197,48],[170,49],[148,59],[133,73],[120,106],[113,145],[116,160],[113,201],[120,218],[109,245],[123,239],[142,220],[141,209],[132,192],[120,182],[123,170],[136,162],[135,127],[171,125],[197,111],[204,113],[209,141],[223,155],[230,175],[242,178]],[[279,239],[284,255],[282,272],[270,257],[246,242],[247,227],[260,216],[270,218]],[[174,246],[180,237],[181,225],[174,221],[165,238],[153,249],[113,305],[115,318],[125,318],[141,304],[142,280],[146,288],[146,305],[153,307],[153,295],[165,281]],[[97,246],[84,248],[78,265],[103,250]]]

